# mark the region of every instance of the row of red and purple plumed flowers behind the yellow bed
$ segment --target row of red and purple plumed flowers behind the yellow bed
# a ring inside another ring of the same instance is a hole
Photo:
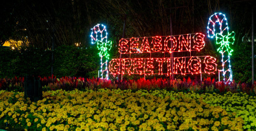
[[[99,78],[83,78],[83,77],[61,77],[56,76],[38,77],[41,80],[43,90],[57,90],[63,89],[71,91],[74,89],[79,90],[98,90],[98,89],[131,89],[137,91],[138,89],[154,90],[154,89],[166,89],[168,91],[183,91],[183,92],[198,92],[198,93],[222,93],[222,92],[246,92],[247,94],[256,94],[256,82],[252,86],[246,83],[236,83],[232,81],[230,84],[225,82],[218,82],[210,77],[203,79],[202,81],[191,80],[183,78],[169,80],[169,79],[144,79],[138,80],[123,80],[123,81],[111,81],[107,79]],[[24,77],[3,78],[0,79],[0,90],[7,91],[24,91]]]

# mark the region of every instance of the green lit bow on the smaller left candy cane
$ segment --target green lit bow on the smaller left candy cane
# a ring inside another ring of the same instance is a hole
[[[109,54],[107,53],[107,51],[111,49],[112,41],[102,42],[100,40],[97,40],[97,47],[100,50],[100,52],[98,53],[100,57],[105,56],[107,59],[109,59]]]

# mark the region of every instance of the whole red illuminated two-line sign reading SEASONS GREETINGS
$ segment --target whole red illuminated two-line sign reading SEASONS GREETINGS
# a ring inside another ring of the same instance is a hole
[[[109,72],[113,76],[116,74],[169,76],[171,74],[214,73],[217,66],[214,57],[191,55],[191,52],[199,52],[204,48],[204,37],[204,34],[195,33],[121,39],[119,40],[119,53],[125,58],[112,59],[109,62]],[[187,56],[171,57],[172,53]],[[157,57],[152,58],[151,54]]]

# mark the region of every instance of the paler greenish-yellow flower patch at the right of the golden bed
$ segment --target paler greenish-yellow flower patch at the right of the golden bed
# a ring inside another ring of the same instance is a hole
[[[149,91],[154,96],[170,96],[171,92],[168,91]],[[184,93],[185,94],[185,93]],[[204,102],[212,106],[220,106],[225,109],[229,114],[233,113],[236,117],[240,116],[244,119],[244,130],[256,130],[256,96],[249,96],[246,93],[232,93],[227,92],[224,95],[220,94],[185,94],[192,99],[202,98]]]

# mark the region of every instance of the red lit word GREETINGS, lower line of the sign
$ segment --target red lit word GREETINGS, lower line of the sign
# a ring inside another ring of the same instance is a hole
[[[214,74],[217,67],[216,59],[211,56],[173,57],[173,59],[173,65],[175,65],[173,72],[171,72],[171,58],[112,59],[109,64],[109,72],[114,76],[116,74],[158,74],[166,76],[171,74]],[[158,64],[157,66],[153,65],[155,62]],[[163,67],[164,63],[167,65]],[[154,72],[155,66],[158,67],[158,72]],[[163,68],[166,67],[167,72],[163,72]],[[119,70],[120,68],[122,69],[121,71]]]

